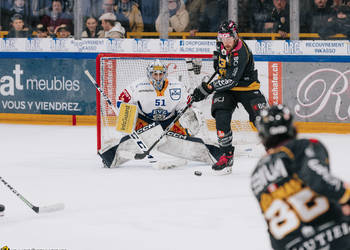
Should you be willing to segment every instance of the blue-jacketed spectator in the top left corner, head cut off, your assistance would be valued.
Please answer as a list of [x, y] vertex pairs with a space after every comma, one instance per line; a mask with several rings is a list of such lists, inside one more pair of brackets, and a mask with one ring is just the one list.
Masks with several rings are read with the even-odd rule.
[[1, 13], [1, 24], [4, 30], [11, 28], [11, 18], [16, 14], [20, 14], [23, 22], [29, 26], [35, 23], [27, 0], [13, 0], [10, 9], [3, 9]]

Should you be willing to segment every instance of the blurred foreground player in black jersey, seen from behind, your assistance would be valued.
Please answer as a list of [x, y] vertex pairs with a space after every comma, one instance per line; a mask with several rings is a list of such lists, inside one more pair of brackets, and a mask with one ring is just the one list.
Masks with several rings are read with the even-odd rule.
[[256, 127], [267, 154], [251, 189], [275, 250], [349, 250], [350, 186], [330, 173], [327, 149], [297, 139], [290, 110], [264, 109]]

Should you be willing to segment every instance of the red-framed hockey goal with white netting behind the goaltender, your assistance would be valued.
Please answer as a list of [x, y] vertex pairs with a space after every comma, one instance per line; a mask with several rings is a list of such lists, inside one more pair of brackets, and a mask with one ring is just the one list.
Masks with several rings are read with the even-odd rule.
[[[201, 72], [195, 75], [188, 71], [186, 59], [201, 59]], [[203, 76], [211, 75], [214, 72], [212, 54], [147, 54], [147, 53], [102, 53], [96, 58], [96, 81], [104, 93], [116, 105], [118, 97], [123, 89], [137, 79], [147, 77], [146, 67], [153, 60], [159, 59], [168, 67], [168, 77], [177, 78], [182, 81], [189, 93], [200, 84]], [[205, 141], [215, 141], [215, 121], [210, 114], [211, 98], [196, 103], [196, 106], [203, 113], [206, 126], [204, 130], [211, 133], [204, 133], [211, 138], [203, 138]], [[233, 131], [251, 133], [254, 131], [248, 121], [248, 115], [242, 108], [236, 109], [234, 120], [231, 121]], [[108, 103], [101, 98], [96, 90], [96, 117], [97, 117], [97, 150], [108, 147], [118, 142], [122, 136], [116, 128], [116, 115], [108, 106]], [[241, 134], [241, 133], [240, 133]], [[240, 136], [247, 138], [246, 135]]]

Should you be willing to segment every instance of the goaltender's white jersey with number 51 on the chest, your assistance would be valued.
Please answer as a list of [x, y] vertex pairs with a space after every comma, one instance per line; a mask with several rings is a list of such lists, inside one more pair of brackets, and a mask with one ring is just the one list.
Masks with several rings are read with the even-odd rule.
[[119, 100], [136, 104], [138, 112], [153, 121], [173, 117], [186, 106], [188, 98], [185, 85], [173, 78], [165, 80], [161, 91], [156, 90], [148, 78], [138, 79], [119, 95]]

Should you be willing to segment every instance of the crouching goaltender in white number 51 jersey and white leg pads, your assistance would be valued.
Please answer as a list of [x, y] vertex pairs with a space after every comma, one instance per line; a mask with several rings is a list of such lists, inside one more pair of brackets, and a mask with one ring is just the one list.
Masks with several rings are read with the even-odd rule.
[[[128, 85], [119, 95], [119, 100], [137, 105], [135, 130], [147, 146], [150, 146], [176, 118], [177, 113], [186, 107], [190, 97], [182, 82], [167, 77], [167, 67], [157, 59], [147, 66], [147, 77]], [[188, 109], [151, 154], [159, 151], [174, 157], [211, 164], [217, 158], [218, 148], [193, 136], [201, 125], [196, 113], [191, 108]], [[126, 157], [125, 152], [140, 153], [129, 135], [122, 137], [117, 144], [102, 149], [99, 154], [104, 165], [111, 168], [132, 159]], [[182, 161], [182, 164], [174, 165], [183, 164]]]

